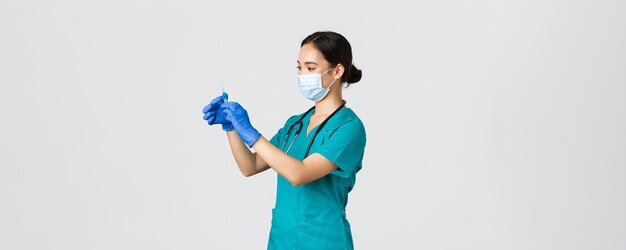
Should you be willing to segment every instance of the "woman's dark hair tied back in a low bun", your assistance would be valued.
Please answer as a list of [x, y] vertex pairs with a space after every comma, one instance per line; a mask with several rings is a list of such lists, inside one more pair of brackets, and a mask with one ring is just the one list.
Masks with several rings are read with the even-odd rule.
[[349, 86], [361, 80], [362, 72], [352, 64], [352, 46], [345, 37], [332, 31], [318, 31], [302, 40], [300, 47], [308, 43], [322, 52], [331, 67], [337, 64], [344, 66], [341, 82], [347, 82]]

